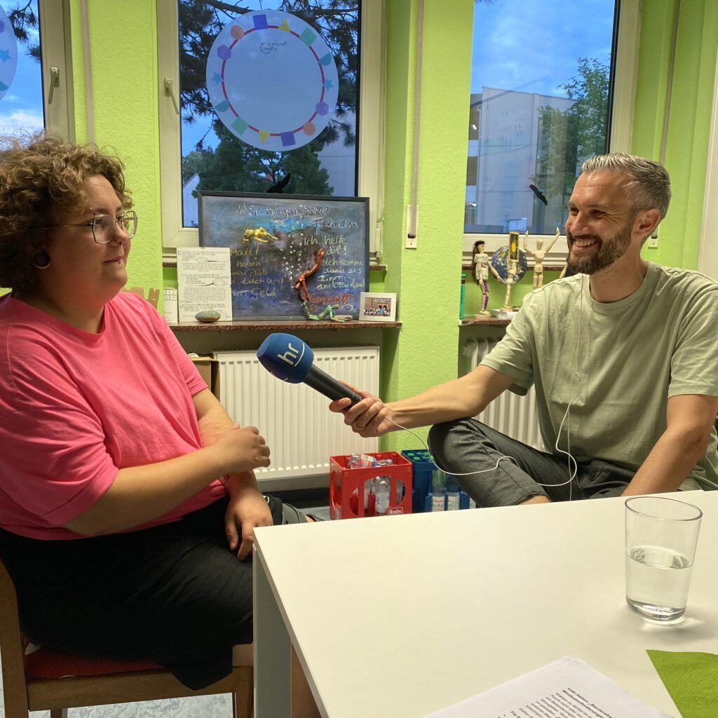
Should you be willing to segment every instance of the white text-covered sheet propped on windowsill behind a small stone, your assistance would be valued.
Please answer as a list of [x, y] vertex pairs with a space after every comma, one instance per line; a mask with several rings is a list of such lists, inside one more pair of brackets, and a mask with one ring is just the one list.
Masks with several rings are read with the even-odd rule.
[[216, 309], [220, 322], [232, 321], [232, 276], [228, 247], [177, 247], [180, 322]]

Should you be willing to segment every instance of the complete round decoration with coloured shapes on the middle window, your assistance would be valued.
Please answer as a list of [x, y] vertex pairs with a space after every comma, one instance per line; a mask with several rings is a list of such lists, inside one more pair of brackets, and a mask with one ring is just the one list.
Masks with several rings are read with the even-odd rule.
[[255, 10], [215, 38], [207, 89], [232, 134], [276, 152], [297, 149], [325, 129], [339, 78], [317, 30], [286, 12]]

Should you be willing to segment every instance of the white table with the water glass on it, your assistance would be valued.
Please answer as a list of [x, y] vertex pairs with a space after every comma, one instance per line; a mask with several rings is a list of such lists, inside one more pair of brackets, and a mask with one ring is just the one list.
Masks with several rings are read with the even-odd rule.
[[258, 528], [256, 718], [289, 716], [290, 640], [323, 716], [419, 718], [561, 656], [678, 715], [645, 649], [715, 652], [718, 492], [683, 623], [625, 603], [624, 500]]

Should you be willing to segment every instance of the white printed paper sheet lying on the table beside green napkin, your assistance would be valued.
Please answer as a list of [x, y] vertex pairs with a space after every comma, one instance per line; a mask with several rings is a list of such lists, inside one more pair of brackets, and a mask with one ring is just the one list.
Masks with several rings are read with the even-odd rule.
[[671, 718], [578, 658], [559, 658], [427, 718]]

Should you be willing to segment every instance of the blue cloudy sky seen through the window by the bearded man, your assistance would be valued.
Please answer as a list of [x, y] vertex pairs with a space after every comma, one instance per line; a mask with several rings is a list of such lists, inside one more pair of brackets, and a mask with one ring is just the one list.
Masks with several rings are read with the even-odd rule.
[[579, 57], [608, 62], [613, 0], [475, 4], [472, 93], [482, 86], [566, 96]]

